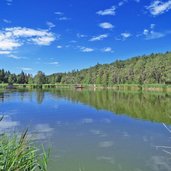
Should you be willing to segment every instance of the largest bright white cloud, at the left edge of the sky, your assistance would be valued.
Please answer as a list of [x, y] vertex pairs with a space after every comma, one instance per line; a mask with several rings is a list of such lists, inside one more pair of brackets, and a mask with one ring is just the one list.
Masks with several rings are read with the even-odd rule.
[[47, 46], [55, 39], [55, 35], [48, 30], [26, 27], [5, 28], [0, 30], [0, 51], [1, 54], [7, 54], [25, 43]]

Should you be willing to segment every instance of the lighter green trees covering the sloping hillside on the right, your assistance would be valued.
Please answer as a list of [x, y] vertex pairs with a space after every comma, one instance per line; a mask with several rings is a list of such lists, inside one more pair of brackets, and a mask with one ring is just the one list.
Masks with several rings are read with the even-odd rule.
[[[48, 76], [49, 83], [58, 74]], [[128, 60], [117, 60], [62, 74], [58, 83], [63, 84], [164, 84], [171, 81], [171, 53], [151, 54]]]

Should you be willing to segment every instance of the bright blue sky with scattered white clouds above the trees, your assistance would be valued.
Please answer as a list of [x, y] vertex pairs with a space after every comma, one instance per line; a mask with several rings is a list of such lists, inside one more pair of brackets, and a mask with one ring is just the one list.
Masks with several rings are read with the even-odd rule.
[[0, 68], [46, 74], [171, 50], [171, 0], [0, 0]]

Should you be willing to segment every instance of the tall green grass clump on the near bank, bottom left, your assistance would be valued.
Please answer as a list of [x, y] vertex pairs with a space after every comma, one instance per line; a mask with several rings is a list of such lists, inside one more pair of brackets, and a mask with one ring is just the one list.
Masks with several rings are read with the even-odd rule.
[[20, 137], [0, 135], [1, 171], [47, 171], [48, 156], [29, 141], [27, 130]]

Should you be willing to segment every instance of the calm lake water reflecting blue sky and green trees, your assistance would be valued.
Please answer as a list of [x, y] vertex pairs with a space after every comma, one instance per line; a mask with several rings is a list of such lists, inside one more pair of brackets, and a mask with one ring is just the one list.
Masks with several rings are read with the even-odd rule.
[[171, 171], [169, 94], [1, 91], [0, 115], [51, 148], [50, 171]]

